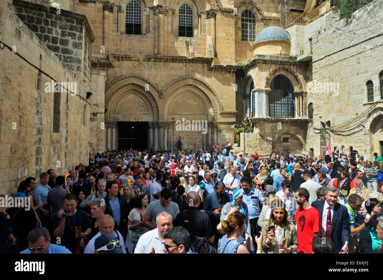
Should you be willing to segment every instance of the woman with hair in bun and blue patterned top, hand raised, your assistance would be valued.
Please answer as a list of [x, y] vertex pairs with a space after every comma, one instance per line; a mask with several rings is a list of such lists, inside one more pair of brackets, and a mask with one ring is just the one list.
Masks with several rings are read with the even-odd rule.
[[[246, 246], [237, 241], [237, 238], [242, 236], [245, 228], [245, 222], [246, 218], [242, 213], [232, 213], [226, 220], [221, 221], [222, 230], [226, 234], [221, 238], [221, 243], [219, 246], [220, 254], [249, 254]], [[257, 254], [262, 253], [262, 240], [262, 233], [259, 238], [255, 236], [255, 242], [257, 243]]]

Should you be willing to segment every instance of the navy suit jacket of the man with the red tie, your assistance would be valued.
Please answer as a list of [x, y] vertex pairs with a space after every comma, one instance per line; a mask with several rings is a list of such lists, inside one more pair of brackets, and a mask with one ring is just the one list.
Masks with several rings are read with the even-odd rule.
[[[321, 221], [325, 201], [326, 200], [314, 201], [311, 203], [311, 206], [318, 210], [319, 214], [321, 215]], [[332, 215], [331, 223], [331, 241], [334, 243], [336, 253], [339, 253], [345, 242], [349, 240], [349, 230], [347, 223], [348, 218], [349, 214], [347, 212], [347, 208], [339, 203], [336, 203], [334, 206], [334, 214]]]

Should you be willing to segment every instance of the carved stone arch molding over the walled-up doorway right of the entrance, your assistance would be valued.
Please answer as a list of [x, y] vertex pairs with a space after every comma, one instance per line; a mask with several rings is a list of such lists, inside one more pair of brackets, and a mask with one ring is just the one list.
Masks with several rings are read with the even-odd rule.
[[218, 94], [215, 92], [215, 90], [204, 80], [201, 80], [197, 77], [192, 76], [183, 76], [174, 79], [171, 81], [165, 88], [162, 90], [163, 92], [163, 98], [161, 99], [160, 104], [158, 104], [160, 113], [160, 120], [164, 120], [165, 116], [164, 109], [167, 101], [169, 100], [169, 97], [179, 88], [183, 86], [195, 86], [196, 88], [200, 89], [203, 93], [206, 94], [208, 99], [210, 100], [211, 104], [211, 111], [213, 115], [213, 120], [218, 120], [218, 114], [222, 112], [222, 105], [219, 101]]

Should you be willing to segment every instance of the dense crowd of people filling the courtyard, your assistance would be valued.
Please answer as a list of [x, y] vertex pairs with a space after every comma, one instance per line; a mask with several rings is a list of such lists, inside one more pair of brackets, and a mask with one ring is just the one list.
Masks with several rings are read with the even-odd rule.
[[[246, 121], [246, 119], [245, 119]], [[2, 253], [379, 253], [383, 160], [119, 150], [20, 182]]]

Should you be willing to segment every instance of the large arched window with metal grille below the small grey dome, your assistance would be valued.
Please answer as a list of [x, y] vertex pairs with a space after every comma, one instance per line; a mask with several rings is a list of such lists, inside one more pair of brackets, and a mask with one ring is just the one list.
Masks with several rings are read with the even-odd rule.
[[272, 118], [295, 117], [295, 94], [290, 80], [278, 75], [270, 83], [268, 94], [268, 112]]

